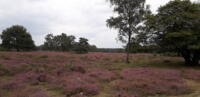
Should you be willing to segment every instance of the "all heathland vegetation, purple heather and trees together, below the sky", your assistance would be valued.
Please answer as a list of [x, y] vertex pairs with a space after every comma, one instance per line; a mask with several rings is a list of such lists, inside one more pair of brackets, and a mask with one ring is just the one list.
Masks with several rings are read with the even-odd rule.
[[200, 4], [171, 0], [154, 14], [145, 0], [108, 2], [124, 48], [65, 33], [36, 46], [24, 26], [3, 30], [0, 97], [199, 97]]

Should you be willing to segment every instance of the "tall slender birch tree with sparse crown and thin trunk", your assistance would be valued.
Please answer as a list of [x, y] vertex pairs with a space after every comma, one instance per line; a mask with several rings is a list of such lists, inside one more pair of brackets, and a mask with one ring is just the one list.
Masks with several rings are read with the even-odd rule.
[[107, 26], [118, 30], [118, 38], [127, 43], [126, 62], [129, 61], [130, 43], [138, 33], [139, 24], [149, 7], [145, 7], [145, 0], [109, 0], [118, 15], [107, 20]]

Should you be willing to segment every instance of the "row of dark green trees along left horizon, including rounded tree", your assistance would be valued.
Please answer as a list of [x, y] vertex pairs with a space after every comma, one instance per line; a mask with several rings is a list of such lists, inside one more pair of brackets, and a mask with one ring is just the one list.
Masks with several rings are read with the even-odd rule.
[[73, 51], [76, 53], [88, 53], [95, 51], [97, 47], [90, 45], [88, 39], [79, 38], [76, 42], [76, 37], [73, 35], [67, 36], [65, 33], [54, 36], [48, 34], [45, 37], [43, 45], [37, 47], [34, 44], [31, 34], [21, 25], [14, 25], [3, 30], [1, 34], [2, 44], [0, 50], [4, 51]]

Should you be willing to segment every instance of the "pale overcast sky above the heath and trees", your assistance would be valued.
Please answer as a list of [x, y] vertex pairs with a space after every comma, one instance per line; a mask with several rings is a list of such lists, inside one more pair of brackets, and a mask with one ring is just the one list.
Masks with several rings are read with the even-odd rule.
[[[151, 9], [169, 0], [147, 0]], [[66, 33], [89, 39], [100, 48], [118, 48], [117, 32], [106, 27], [106, 19], [113, 15], [106, 0], [0, 0], [0, 32], [12, 25], [23, 25], [31, 33], [35, 44], [44, 37]]]

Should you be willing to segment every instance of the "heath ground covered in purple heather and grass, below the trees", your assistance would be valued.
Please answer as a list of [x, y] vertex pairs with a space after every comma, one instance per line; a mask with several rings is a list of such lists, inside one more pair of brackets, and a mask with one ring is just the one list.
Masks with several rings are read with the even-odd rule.
[[0, 52], [0, 97], [200, 97], [200, 68], [181, 57]]

